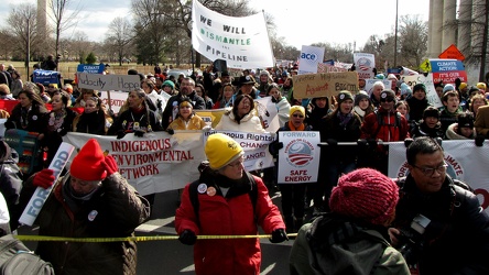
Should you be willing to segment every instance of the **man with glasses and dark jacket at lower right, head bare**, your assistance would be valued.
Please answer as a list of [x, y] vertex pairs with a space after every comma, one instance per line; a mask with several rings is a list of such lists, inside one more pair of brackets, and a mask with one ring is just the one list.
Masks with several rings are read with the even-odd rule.
[[419, 274], [489, 274], [489, 217], [466, 184], [447, 175], [442, 146], [414, 140], [400, 178], [392, 244]]

